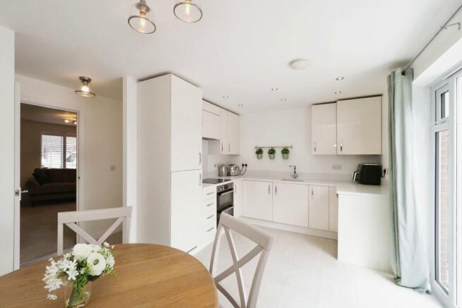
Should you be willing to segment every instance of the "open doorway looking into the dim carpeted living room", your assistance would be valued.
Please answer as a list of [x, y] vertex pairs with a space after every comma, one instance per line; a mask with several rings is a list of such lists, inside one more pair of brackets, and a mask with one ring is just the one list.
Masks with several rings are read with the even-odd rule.
[[[76, 211], [78, 113], [20, 104], [20, 264], [56, 253], [61, 211]], [[76, 235], [64, 230], [64, 247]]]

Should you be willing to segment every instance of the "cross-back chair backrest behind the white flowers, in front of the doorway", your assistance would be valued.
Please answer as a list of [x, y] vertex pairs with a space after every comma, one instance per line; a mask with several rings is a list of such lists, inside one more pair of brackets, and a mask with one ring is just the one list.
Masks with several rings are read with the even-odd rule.
[[[62, 211], [58, 213], [58, 255], [63, 254], [63, 226], [66, 225], [75, 233], [80, 235], [90, 244], [102, 245], [111, 233], [116, 230], [121, 223], [125, 224], [126, 218], [131, 216], [131, 207], [114, 207], [111, 209], [92, 209], [88, 211]], [[117, 218], [112, 226], [104, 232], [98, 240], [92, 238], [76, 223], [83, 221], [100, 221], [102, 219]]]

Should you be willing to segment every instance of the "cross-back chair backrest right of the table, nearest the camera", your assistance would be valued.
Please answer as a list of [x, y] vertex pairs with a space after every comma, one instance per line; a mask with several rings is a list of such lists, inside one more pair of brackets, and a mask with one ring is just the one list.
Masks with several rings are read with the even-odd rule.
[[[248, 254], [245, 254], [244, 257], [239, 259], [238, 254], [236, 252], [236, 245], [234, 245], [233, 235], [231, 234], [230, 230], [236, 231], [241, 235], [245, 236], [249, 240], [255, 242], [256, 246], [253, 250], [250, 250]], [[224, 270], [223, 272], [219, 273], [217, 276], [214, 276], [214, 259], [215, 254], [217, 252], [217, 247], [219, 247], [219, 241], [221, 239], [221, 233], [224, 231], [226, 241], [229, 245], [229, 251], [231, 252], [231, 257], [233, 259], [233, 265], [231, 265], [228, 269]], [[253, 308], [257, 305], [258, 299], [258, 291], [260, 290], [260, 283], [262, 281], [263, 271], [265, 270], [265, 265], [267, 262], [267, 257], [269, 250], [273, 245], [274, 237], [261, 230], [260, 228], [256, 228], [251, 226], [248, 223], [238, 220], [229, 214], [222, 213], [220, 215], [220, 221], [217, 228], [217, 234], [215, 235], [213, 250], [212, 250], [212, 259], [210, 260], [210, 274], [213, 276], [215, 285], [217, 285], [217, 289], [223, 293], [223, 295], [233, 304], [233, 307], [236, 308]], [[248, 263], [248, 261], [252, 260], [254, 257], [260, 254], [260, 259], [257, 262], [257, 267], [255, 269], [255, 274], [253, 276], [252, 285], [250, 286], [250, 292], [247, 297], [247, 293], [245, 291], [245, 285], [242, 278], [241, 267]], [[217, 267], [217, 262], [215, 262], [215, 267]], [[238, 281], [238, 290], [239, 290], [239, 302], [233, 298], [228, 291], [226, 291], [222, 285], [220, 285], [220, 281], [224, 278], [228, 277], [232, 273], [236, 273], [236, 279]]]

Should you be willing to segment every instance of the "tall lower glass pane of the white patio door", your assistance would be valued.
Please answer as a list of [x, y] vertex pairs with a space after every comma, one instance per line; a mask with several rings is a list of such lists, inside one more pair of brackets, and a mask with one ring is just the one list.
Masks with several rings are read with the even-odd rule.
[[449, 161], [449, 130], [442, 130], [437, 133], [437, 236], [436, 236], [436, 278], [447, 292], [449, 286], [449, 255], [448, 255], [448, 223], [449, 223], [449, 191], [451, 183], [448, 178]]

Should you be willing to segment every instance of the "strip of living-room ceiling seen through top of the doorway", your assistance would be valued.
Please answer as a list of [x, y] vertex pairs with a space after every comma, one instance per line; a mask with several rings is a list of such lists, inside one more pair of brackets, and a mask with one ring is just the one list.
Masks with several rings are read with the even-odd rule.
[[66, 123], [64, 120], [77, 121], [77, 113], [30, 104], [21, 104], [21, 119], [43, 123], [75, 126], [75, 124]]

